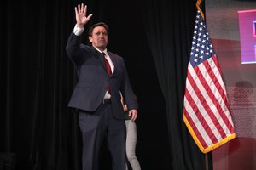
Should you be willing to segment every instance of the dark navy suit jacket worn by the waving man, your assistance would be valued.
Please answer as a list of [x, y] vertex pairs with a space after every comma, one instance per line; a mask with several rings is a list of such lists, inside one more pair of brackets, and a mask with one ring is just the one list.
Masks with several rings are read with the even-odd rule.
[[108, 51], [114, 65], [113, 74], [109, 77], [102, 54], [96, 48], [81, 42], [82, 36], [76, 36], [73, 32], [67, 42], [67, 54], [76, 67], [78, 77], [68, 106], [84, 111], [96, 111], [110, 84], [113, 114], [116, 118], [125, 119], [119, 92], [123, 94], [129, 110], [137, 109], [137, 100], [123, 58]]

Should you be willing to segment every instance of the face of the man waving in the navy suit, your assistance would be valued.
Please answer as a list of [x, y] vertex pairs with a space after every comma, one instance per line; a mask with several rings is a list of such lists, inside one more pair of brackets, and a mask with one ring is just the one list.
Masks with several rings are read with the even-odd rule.
[[93, 29], [91, 36], [89, 37], [89, 40], [93, 47], [103, 51], [108, 44], [108, 32], [105, 29], [105, 27], [96, 26]]

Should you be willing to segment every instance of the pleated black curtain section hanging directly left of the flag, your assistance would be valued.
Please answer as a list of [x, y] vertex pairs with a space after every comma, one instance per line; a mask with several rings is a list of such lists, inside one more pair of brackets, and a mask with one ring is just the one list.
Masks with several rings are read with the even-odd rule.
[[[183, 96], [195, 26], [196, 1], [145, 1], [148, 43], [166, 99], [172, 168], [212, 169], [212, 154], [201, 153], [183, 123]], [[202, 8], [204, 9], [204, 8]], [[207, 161], [206, 161], [207, 160]]]

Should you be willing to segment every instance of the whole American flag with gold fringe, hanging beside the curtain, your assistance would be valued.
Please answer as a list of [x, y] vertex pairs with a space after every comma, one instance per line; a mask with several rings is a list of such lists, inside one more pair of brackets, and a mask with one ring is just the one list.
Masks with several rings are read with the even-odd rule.
[[236, 137], [218, 59], [200, 11], [195, 19], [183, 102], [183, 120], [203, 153]]

